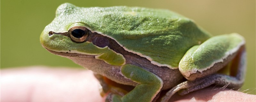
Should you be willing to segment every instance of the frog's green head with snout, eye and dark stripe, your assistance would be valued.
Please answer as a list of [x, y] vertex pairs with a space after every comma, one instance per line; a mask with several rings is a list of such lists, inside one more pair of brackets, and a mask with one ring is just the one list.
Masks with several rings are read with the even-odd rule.
[[84, 23], [92, 21], [92, 17], [86, 17], [89, 13], [69, 3], [60, 5], [55, 19], [45, 27], [40, 36], [41, 44], [56, 55], [96, 58], [111, 65], [123, 65], [124, 56], [109, 48], [108, 37], [94, 33]]

